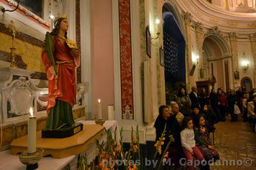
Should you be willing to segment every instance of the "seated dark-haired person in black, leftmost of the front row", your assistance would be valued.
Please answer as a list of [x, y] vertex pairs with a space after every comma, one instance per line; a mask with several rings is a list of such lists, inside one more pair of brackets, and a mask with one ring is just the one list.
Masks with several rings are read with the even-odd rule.
[[180, 167], [179, 160], [183, 156], [182, 148], [180, 145], [180, 124], [176, 118], [170, 113], [169, 106], [163, 105], [159, 107], [159, 115], [156, 118], [154, 127], [156, 128], [156, 141], [161, 138], [166, 125], [166, 133], [164, 135], [164, 145], [161, 148], [163, 154], [166, 145], [172, 140], [168, 148], [168, 157], [171, 159], [173, 166]]

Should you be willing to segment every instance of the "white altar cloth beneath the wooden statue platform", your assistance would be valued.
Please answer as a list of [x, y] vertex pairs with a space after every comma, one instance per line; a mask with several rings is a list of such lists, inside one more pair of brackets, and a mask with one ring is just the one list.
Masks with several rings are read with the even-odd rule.
[[[79, 122], [83, 124], [95, 124], [93, 120], [80, 120]], [[119, 129], [118, 129], [118, 123], [116, 120], [106, 120], [105, 124], [103, 126], [108, 130], [110, 129], [111, 132], [115, 132], [116, 130], [116, 138], [120, 139], [119, 135]], [[100, 139], [100, 143], [104, 140], [106, 141], [107, 134], [104, 134]], [[86, 157], [88, 160], [88, 163], [92, 162], [93, 159], [97, 156], [97, 146], [96, 143], [92, 143], [88, 146], [88, 150], [84, 151], [86, 152]], [[59, 170], [63, 167], [70, 164], [71, 169], [76, 169], [77, 164], [77, 155], [72, 155], [70, 157], [66, 157], [63, 159], [54, 159], [51, 156], [43, 157], [38, 162], [38, 170], [45, 170], [45, 169], [51, 169], [51, 170]], [[4, 170], [25, 170], [26, 166], [22, 164], [19, 160], [19, 155], [12, 155], [10, 153], [10, 150], [4, 150], [3, 152], [0, 152], [0, 169]], [[36, 169], [37, 170], [37, 169]]]

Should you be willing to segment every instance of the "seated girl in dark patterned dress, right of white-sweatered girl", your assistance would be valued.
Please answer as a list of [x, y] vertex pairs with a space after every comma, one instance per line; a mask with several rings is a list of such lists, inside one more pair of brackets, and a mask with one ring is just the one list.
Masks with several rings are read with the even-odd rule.
[[207, 127], [205, 126], [205, 118], [199, 115], [195, 121], [195, 141], [196, 146], [204, 155], [205, 160], [218, 160], [220, 155], [211, 143]]

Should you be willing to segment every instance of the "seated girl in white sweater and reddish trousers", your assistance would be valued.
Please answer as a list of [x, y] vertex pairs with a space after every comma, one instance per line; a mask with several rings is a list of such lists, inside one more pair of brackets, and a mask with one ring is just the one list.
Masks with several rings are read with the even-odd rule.
[[188, 160], [188, 169], [195, 169], [193, 166], [191, 166], [191, 164], [193, 164], [193, 155], [201, 162], [202, 160], [204, 160], [204, 156], [196, 147], [192, 118], [185, 117], [182, 121], [182, 127], [184, 129], [183, 131], [180, 132], [182, 150]]

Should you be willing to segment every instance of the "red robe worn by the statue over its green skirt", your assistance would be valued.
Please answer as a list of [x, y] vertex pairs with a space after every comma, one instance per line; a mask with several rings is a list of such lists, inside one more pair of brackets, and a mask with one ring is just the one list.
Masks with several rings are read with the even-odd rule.
[[[51, 60], [47, 57], [45, 49], [42, 50], [42, 60], [49, 80], [49, 97], [47, 104], [47, 114], [55, 106], [56, 99], [69, 103], [72, 107], [76, 103], [76, 67], [80, 65], [79, 54], [71, 52], [71, 49], [58, 36], [52, 36], [56, 39], [54, 43], [54, 60], [67, 61], [73, 60], [73, 63], [58, 64], [58, 79], [54, 79], [54, 74], [49, 72], [52, 66]], [[57, 81], [57, 82], [56, 82]], [[54, 89], [57, 85], [57, 89]]]

